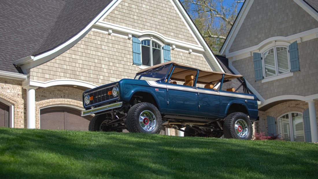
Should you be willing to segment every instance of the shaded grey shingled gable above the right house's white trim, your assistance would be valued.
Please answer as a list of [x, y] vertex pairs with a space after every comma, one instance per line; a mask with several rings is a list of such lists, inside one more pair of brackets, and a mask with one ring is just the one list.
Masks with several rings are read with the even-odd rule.
[[270, 37], [290, 36], [317, 27], [317, 20], [293, 0], [255, 0], [229, 52], [258, 45]]

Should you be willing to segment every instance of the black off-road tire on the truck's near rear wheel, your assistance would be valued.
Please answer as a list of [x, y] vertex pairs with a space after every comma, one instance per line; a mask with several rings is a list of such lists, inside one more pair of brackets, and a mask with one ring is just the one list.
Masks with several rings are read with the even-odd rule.
[[[247, 135], [245, 137], [238, 136], [238, 134], [235, 131], [235, 122], [239, 119], [244, 120], [245, 123], [247, 124], [248, 132], [247, 132]], [[252, 134], [253, 134], [252, 122], [247, 117], [247, 115], [242, 113], [242, 112], [235, 112], [235, 113], [231, 113], [228, 116], [226, 116], [224, 124], [223, 124], [223, 130], [224, 130], [224, 137], [225, 138], [249, 140], [252, 138]]]

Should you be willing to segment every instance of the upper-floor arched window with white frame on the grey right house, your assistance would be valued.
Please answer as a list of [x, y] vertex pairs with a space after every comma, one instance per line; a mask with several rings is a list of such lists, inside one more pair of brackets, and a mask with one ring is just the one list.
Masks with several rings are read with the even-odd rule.
[[287, 46], [275, 46], [263, 53], [264, 77], [278, 76], [290, 72]]

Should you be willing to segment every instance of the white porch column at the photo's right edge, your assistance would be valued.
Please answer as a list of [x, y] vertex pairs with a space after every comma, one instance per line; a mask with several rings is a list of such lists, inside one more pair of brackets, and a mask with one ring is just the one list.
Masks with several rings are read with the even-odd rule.
[[315, 101], [306, 101], [309, 108], [309, 120], [310, 120], [310, 131], [311, 131], [311, 142], [318, 142], [318, 131], [317, 131], [317, 116]]

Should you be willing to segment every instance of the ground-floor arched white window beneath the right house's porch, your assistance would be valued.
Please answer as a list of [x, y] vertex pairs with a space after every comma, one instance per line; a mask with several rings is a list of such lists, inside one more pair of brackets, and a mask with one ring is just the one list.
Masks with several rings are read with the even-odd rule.
[[303, 117], [299, 112], [289, 112], [278, 118], [280, 138], [285, 141], [304, 142]]

